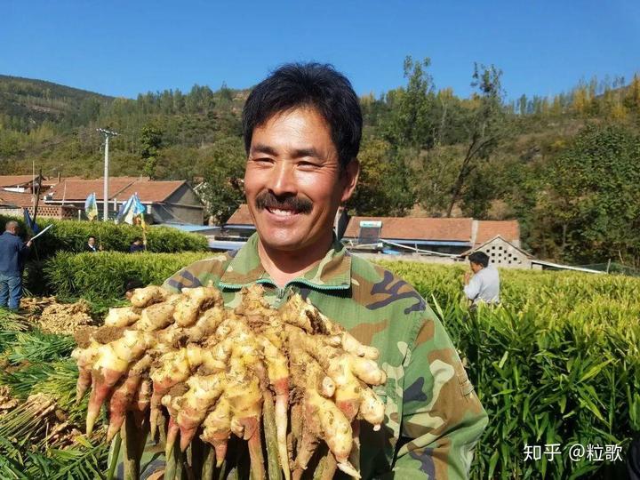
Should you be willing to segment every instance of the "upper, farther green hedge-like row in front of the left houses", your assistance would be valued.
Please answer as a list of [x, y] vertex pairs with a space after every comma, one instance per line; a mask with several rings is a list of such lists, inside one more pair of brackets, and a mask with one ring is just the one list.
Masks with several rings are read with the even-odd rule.
[[[8, 220], [20, 221], [21, 232], [26, 232], [20, 219], [0, 215], [0, 231]], [[129, 246], [136, 236], [142, 236], [142, 229], [128, 224], [116, 225], [111, 222], [81, 220], [38, 220], [38, 226], [53, 227], [36, 239], [32, 259], [45, 259], [56, 252], [84, 252], [84, 245], [90, 235], [95, 236], [108, 252], [129, 252]], [[181, 232], [175, 228], [147, 228], [148, 252], [204, 252], [208, 249], [204, 236]]]

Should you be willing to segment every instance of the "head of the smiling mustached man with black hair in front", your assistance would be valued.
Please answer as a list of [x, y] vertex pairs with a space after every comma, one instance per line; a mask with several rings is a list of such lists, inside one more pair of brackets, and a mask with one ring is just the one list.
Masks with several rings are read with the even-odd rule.
[[348, 79], [328, 65], [284, 65], [249, 95], [243, 129], [244, 190], [262, 244], [328, 246], [359, 172], [362, 112]]

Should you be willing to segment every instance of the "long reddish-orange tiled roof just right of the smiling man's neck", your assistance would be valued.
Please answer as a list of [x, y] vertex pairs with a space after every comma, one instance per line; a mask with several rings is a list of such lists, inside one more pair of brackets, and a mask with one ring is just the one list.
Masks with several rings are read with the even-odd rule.
[[361, 221], [381, 221], [381, 238], [471, 242], [473, 219], [420, 217], [351, 217], [344, 236], [357, 238]]

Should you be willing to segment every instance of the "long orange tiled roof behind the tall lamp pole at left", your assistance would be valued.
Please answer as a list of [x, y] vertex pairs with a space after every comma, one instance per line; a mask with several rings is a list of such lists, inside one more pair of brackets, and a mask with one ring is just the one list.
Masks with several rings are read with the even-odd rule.
[[[140, 201], [164, 202], [178, 188], [185, 183], [184, 180], [158, 181], [148, 180], [144, 177], [112, 177], [109, 178], [108, 198], [117, 198], [119, 201], [126, 200], [134, 193], [138, 193]], [[52, 187], [48, 192], [52, 195], [52, 200], [68, 200], [69, 202], [84, 201], [93, 192], [96, 200], [104, 199], [102, 195], [104, 187], [103, 180], [62, 180]]]

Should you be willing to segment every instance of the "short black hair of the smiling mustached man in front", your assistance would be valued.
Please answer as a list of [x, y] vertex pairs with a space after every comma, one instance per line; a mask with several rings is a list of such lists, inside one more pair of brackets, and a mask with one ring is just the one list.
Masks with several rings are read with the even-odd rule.
[[256, 127], [278, 113], [300, 107], [315, 108], [329, 124], [340, 167], [356, 158], [363, 125], [360, 103], [348, 78], [322, 63], [287, 63], [252, 90], [243, 109], [246, 153]]

